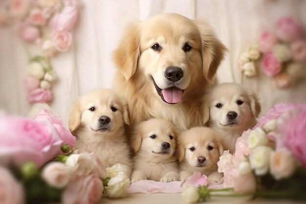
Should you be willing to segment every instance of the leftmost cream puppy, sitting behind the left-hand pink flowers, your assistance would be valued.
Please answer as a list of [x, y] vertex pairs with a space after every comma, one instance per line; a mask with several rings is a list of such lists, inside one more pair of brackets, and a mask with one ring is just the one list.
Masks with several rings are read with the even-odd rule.
[[79, 150], [94, 152], [106, 167], [120, 163], [130, 177], [125, 123], [129, 124], [127, 103], [108, 89], [96, 89], [80, 97], [69, 115], [69, 129], [77, 137]]

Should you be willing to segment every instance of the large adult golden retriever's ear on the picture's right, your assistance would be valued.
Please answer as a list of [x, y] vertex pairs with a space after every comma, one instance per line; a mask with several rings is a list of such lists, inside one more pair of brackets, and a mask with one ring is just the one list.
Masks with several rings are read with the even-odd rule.
[[224, 59], [224, 52], [227, 49], [205, 22], [199, 19], [194, 22], [201, 36], [203, 74], [209, 82], [214, 83], [217, 69]]

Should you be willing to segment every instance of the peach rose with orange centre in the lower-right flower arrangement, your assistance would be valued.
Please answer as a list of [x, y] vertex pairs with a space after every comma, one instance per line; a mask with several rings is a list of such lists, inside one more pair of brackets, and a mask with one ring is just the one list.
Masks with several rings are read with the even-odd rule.
[[296, 170], [297, 160], [286, 149], [271, 154], [270, 172], [276, 180], [290, 177]]

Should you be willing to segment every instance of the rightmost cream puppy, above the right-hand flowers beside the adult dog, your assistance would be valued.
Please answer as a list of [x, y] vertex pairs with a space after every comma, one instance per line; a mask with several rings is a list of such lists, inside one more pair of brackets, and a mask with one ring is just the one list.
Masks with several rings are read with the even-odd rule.
[[214, 87], [207, 98], [204, 109], [209, 110], [210, 117], [204, 121], [209, 120], [208, 125], [222, 136], [224, 149], [234, 153], [237, 138], [257, 123], [261, 112], [258, 97], [239, 84], [224, 83]]

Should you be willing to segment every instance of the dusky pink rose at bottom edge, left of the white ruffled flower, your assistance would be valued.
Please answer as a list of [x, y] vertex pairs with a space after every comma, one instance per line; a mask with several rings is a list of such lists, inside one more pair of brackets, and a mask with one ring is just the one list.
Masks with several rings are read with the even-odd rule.
[[103, 182], [97, 175], [76, 177], [62, 194], [63, 204], [95, 204], [103, 193]]

